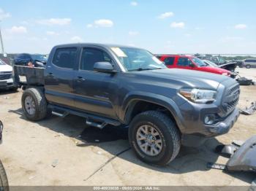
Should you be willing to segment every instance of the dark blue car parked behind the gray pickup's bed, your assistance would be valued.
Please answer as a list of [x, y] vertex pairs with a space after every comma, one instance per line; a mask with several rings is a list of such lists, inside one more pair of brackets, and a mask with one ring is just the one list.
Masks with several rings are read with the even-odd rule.
[[14, 64], [16, 66], [29, 66], [32, 63], [35, 67], [44, 67], [47, 62], [45, 55], [30, 55], [30, 54], [19, 54], [14, 58]]

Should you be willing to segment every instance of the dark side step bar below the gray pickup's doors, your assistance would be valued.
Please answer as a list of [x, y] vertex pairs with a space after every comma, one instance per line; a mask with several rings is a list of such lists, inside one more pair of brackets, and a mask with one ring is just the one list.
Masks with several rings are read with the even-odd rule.
[[97, 128], [104, 128], [108, 124], [113, 126], [121, 125], [121, 122], [119, 122], [118, 120], [112, 120], [108, 117], [99, 117], [98, 115], [88, 114], [86, 112], [78, 112], [72, 109], [67, 109], [65, 107], [54, 106], [50, 104], [48, 105], [48, 108], [53, 110], [52, 114], [59, 117], [66, 117], [68, 114], [75, 114], [80, 117], [85, 117], [87, 125], [91, 125]]

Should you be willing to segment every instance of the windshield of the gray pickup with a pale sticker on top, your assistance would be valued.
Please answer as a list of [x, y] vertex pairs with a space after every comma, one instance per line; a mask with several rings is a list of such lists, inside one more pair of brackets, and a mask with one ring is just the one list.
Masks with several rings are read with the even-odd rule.
[[127, 71], [166, 69], [162, 61], [147, 50], [132, 47], [111, 47]]

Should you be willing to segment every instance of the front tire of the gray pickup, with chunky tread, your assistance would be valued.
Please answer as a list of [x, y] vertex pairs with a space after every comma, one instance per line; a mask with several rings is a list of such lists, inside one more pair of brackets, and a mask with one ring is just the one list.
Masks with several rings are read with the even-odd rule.
[[[148, 155], [145, 150], [143, 151], [143, 149], [141, 149], [143, 143], [141, 144], [140, 139], [138, 138], [138, 132], [141, 130], [141, 128], [146, 127], [145, 125], [151, 127], [151, 130], [154, 128], [154, 130], [158, 131], [159, 135], [155, 136], [154, 140], [157, 138], [162, 139], [162, 144], [160, 144], [162, 145], [162, 149], [157, 151], [159, 152], [158, 154], [155, 152], [151, 153], [153, 155]], [[156, 133], [156, 131], [154, 132]], [[138, 141], [140, 143], [138, 143]], [[167, 165], [178, 155], [178, 152], [181, 148], [181, 135], [175, 123], [170, 119], [170, 117], [167, 117], [167, 115], [161, 112], [147, 111], [135, 116], [130, 123], [129, 144], [131, 145], [132, 150], [135, 152], [137, 157], [143, 162], [151, 163], [154, 165]], [[156, 144], [153, 144], [153, 146], [154, 148], [157, 148], [155, 147]], [[146, 146], [146, 150], [148, 150], [148, 147], [149, 146]], [[151, 147], [149, 150], [151, 150]]]

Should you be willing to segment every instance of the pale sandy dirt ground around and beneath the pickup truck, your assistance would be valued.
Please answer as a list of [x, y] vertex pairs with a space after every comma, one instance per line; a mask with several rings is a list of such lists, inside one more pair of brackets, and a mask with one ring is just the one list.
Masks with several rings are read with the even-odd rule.
[[[238, 69], [256, 80], [256, 69]], [[215, 154], [217, 144], [246, 140], [256, 134], [256, 114], [241, 115], [229, 133], [201, 147], [182, 147], [178, 158], [159, 168], [138, 160], [127, 140], [86, 144], [78, 139], [86, 128], [76, 116], [30, 122], [23, 117], [18, 93], [0, 93], [4, 142], [0, 158], [10, 185], [249, 185], [255, 175], [209, 170], [206, 163], [226, 163]], [[256, 101], [256, 86], [241, 87], [238, 107]], [[120, 152], [128, 149], [120, 154]], [[116, 156], [117, 154], [120, 154]], [[53, 165], [55, 167], [53, 167]]]

